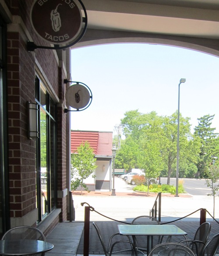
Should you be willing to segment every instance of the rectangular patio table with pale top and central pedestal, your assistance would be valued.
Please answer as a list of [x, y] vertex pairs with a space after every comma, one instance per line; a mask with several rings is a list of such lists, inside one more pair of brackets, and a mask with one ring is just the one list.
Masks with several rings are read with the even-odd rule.
[[175, 225], [118, 225], [121, 235], [146, 235], [147, 236], [147, 253], [153, 247], [154, 235], [187, 235]]

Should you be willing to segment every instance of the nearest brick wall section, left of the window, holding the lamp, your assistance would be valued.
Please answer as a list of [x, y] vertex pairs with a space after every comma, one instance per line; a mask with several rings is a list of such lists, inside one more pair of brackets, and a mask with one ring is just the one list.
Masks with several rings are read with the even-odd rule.
[[11, 217], [21, 217], [35, 209], [35, 141], [27, 138], [26, 108], [27, 101], [35, 101], [34, 81], [34, 59], [25, 50], [25, 42], [18, 33], [8, 33], [7, 94]]

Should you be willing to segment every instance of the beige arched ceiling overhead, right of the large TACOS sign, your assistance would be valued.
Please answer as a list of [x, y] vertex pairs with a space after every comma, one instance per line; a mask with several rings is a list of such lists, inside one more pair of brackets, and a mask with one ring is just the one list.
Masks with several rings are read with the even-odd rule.
[[219, 0], [82, 0], [82, 3], [88, 27], [72, 48], [145, 42], [219, 56]]

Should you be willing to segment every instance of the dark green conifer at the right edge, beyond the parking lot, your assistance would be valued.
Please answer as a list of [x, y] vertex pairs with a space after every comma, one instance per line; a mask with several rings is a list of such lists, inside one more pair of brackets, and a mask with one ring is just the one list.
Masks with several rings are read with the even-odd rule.
[[215, 128], [211, 128], [215, 115], [204, 115], [198, 118], [198, 126], [194, 128], [194, 135], [200, 138], [200, 153], [197, 163], [196, 177], [204, 177], [211, 166], [214, 157], [219, 157], [219, 139]]

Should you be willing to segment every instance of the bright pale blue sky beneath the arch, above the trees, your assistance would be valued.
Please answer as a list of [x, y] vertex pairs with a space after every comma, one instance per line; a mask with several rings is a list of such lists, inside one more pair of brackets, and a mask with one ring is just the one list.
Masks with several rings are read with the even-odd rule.
[[71, 113], [71, 130], [111, 131], [130, 110], [169, 116], [178, 109], [190, 117], [214, 115], [219, 133], [219, 58], [179, 47], [119, 43], [71, 50], [71, 79], [92, 91], [91, 105]]

